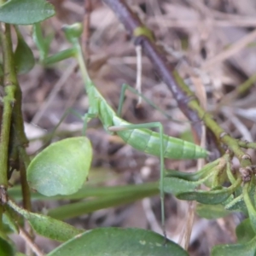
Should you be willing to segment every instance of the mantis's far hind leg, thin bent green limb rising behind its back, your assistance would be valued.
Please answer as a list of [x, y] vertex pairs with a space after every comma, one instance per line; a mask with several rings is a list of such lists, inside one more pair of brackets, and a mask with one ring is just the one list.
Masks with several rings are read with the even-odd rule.
[[[152, 102], [151, 100], [149, 100], [146, 96], [143, 96], [142, 93], [138, 92], [136, 89], [132, 88], [131, 85], [129, 84], [123, 84], [122, 85], [122, 89], [121, 89], [121, 94], [120, 94], [120, 98], [119, 98], [119, 108], [117, 111], [117, 115], [120, 117], [121, 113], [122, 113], [122, 108], [124, 105], [124, 101], [125, 101], [125, 90], [130, 90], [131, 93], [140, 96], [141, 98], [143, 98], [143, 101], [147, 102], [148, 105], [152, 106], [153, 108], [157, 109], [160, 113], [162, 113], [164, 116], [166, 116], [167, 119], [172, 119], [172, 116], [169, 115], [168, 113], [166, 113], [163, 109], [160, 109], [158, 106], [156, 106], [154, 104], [154, 102]], [[173, 120], [173, 119], [172, 119]], [[178, 120], [175, 120], [177, 122], [180, 122]]]

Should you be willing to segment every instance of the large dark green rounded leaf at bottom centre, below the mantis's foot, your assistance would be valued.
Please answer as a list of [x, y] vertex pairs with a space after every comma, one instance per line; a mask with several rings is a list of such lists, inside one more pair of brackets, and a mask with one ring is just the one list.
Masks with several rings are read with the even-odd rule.
[[[182, 247], [149, 230], [102, 228], [67, 241], [47, 256], [187, 256]], [[86, 253], [85, 253], [86, 252]]]

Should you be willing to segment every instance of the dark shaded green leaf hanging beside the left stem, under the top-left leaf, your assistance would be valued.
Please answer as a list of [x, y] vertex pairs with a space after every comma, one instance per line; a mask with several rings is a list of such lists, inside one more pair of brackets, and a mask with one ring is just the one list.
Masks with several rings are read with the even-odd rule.
[[15, 31], [18, 37], [18, 45], [15, 49], [15, 67], [17, 73], [28, 73], [35, 65], [34, 55], [16, 26]]

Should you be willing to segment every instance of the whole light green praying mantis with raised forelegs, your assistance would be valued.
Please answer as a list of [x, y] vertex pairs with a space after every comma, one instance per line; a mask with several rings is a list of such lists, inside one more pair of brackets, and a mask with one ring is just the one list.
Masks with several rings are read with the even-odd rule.
[[[125, 143], [131, 145], [132, 148], [160, 157], [160, 201], [161, 201], [161, 221], [165, 233], [165, 214], [164, 214], [164, 159], [200, 159], [206, 158], [208, 152], [194, 143], [185, 142], [179, 138], [168, 137], [164, 134], [163, 126], [160, 122], [152, 122], [147, 124], [131, 124], [119, 117], [124, 100], [125, 90], [129, 89], [129, 85], [125, 84], [122, 88], [121, 98], [119, 102], [118, 114], [108, 105], [101, 93], [96, 89], [87, 68], [84, 64], [84, 55], [79, 44], [79, 37], [83, 31], [79, 23], [71, 26], [64, 26], [67, 40], [72, 44], [72, 48], [63, 50], [55, 55], [47, 57], [42, 43], [42, 32], [39, 25], [35, 26], [35, 39], [38, 48], [41, 51], [42, 62], [45, 65], [74, 57], [79, 63], [79, 69], [84, 81], [85, 91], [89, 98], [90, 108], [88, 113], [84, 114], [84, 130], [86, 125], [93, 118], [99, 118], [102, 121], [106, 131], [114, 132], [121, 137]], [[159, 132], [151, 131], [148, 128], [158, 128]], [[79, 148], [78, 148], [79, 150]]]

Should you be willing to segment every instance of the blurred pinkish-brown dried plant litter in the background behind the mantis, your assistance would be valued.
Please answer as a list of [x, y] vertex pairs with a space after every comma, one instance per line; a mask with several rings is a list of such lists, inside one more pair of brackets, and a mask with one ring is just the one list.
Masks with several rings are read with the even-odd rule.
[[[84, 20], [84, 1], [50, 2], [55, 4], [57, 16], [44, 22], [44, 32], [49, 37], [52, 37], [54, 31], [57, 32], [49, 49], [50, 53], [55, 53], [68, 47], [61, 32], [62, 24]], [[207, 111], [218, 120], [218, 124], [232, 137], [255, 141], [255, 1], [126, 2], [143, 23], [154, 31], [157, 44], [168, 53], [168, 60], [176, 65], [178, 72], [191, 90], [196, 92]], [[84, 39], [90, 75], [108, 103], [116, 109], [121, 84], [136, 84], [135, 47], [124, 26], [102, 1], [91, 1], [90, 19], [87, 31], [89, 38]], [[38, 58], [30, 32], [26, 29], [21, 32], [26, 35], [27, 44], [32, 46], [33, 54]], [[160, 81], [144, 55], [142, 62], [143, 94], [172, 119], [166, 119], [165, 115], [145, 102], [137, 109], [137, 96], [130, 93], [125, 97], [123, 117], [132, 123], [158, 120], [170, 136], [191, 137], [189, 122], [177, 108], [172, 93]], [[37, 125], [38, 137], [44, 137], [48, 131], [53, 130], [65, 109], [72, 107], [83, 114], [89, 108], [76, 63], [72, 60], [47, 69], [36, 66], [32, 72], [20, 76], [20, 84], [24, 97], [23, 111], [28, 124], [27, 136], [31, 139], [34, 139], [34, 132], [29, 128], [30, 125]], [[79, 134], [82, 126], [80, 119], [69, 115], [56, 132], [56, 139]], [[111, 169], [118, 176], [115, 184], [158, 179], [157, 158], [137, 152], [118, 138], [107, 134], [97, 120], [90, 122], [88, 136], [95, 151], [94, 166], [105, 169], [106, 172]], [[42, 146], [42, 141], [39, 142], [34, 148], [29, 148], [30, 153]], [[256, 159], [255, 151], [249, 154], [253, 160]], [[236, 162], [234, 165], [236, 166]], [[166, 166], [183, 172], [193, 172], [196, 169], [195, 162], [191, 160], [168, 160]], [[119, 176], [119, 173], [122, 175]], [[171, 230], [167, 236], [174, 241], [178, 240], [179, 232], [183, 229], [187, 209], [186, 203], [177, 201], [174, 197], [166, 198], [166, 230]], [[146, 221], [141, 223], [137, 218], [146, 218]], [[84, 222], [84, 217], [73, 221]], [[88, 228], [104, 225], [106, 222], [108, 225], [119, 224], [124, 227], [131, 223], [160, 231], [160, 201], [154, 198], [132, 207], [104, 210], [103, 215], [92, 214], [84, 224]], [[235, 242], [236, 224], [236, 215], [218, 221], [196, 217], [189, 247], [190, 255], [206, 256], [213, 245]]]

